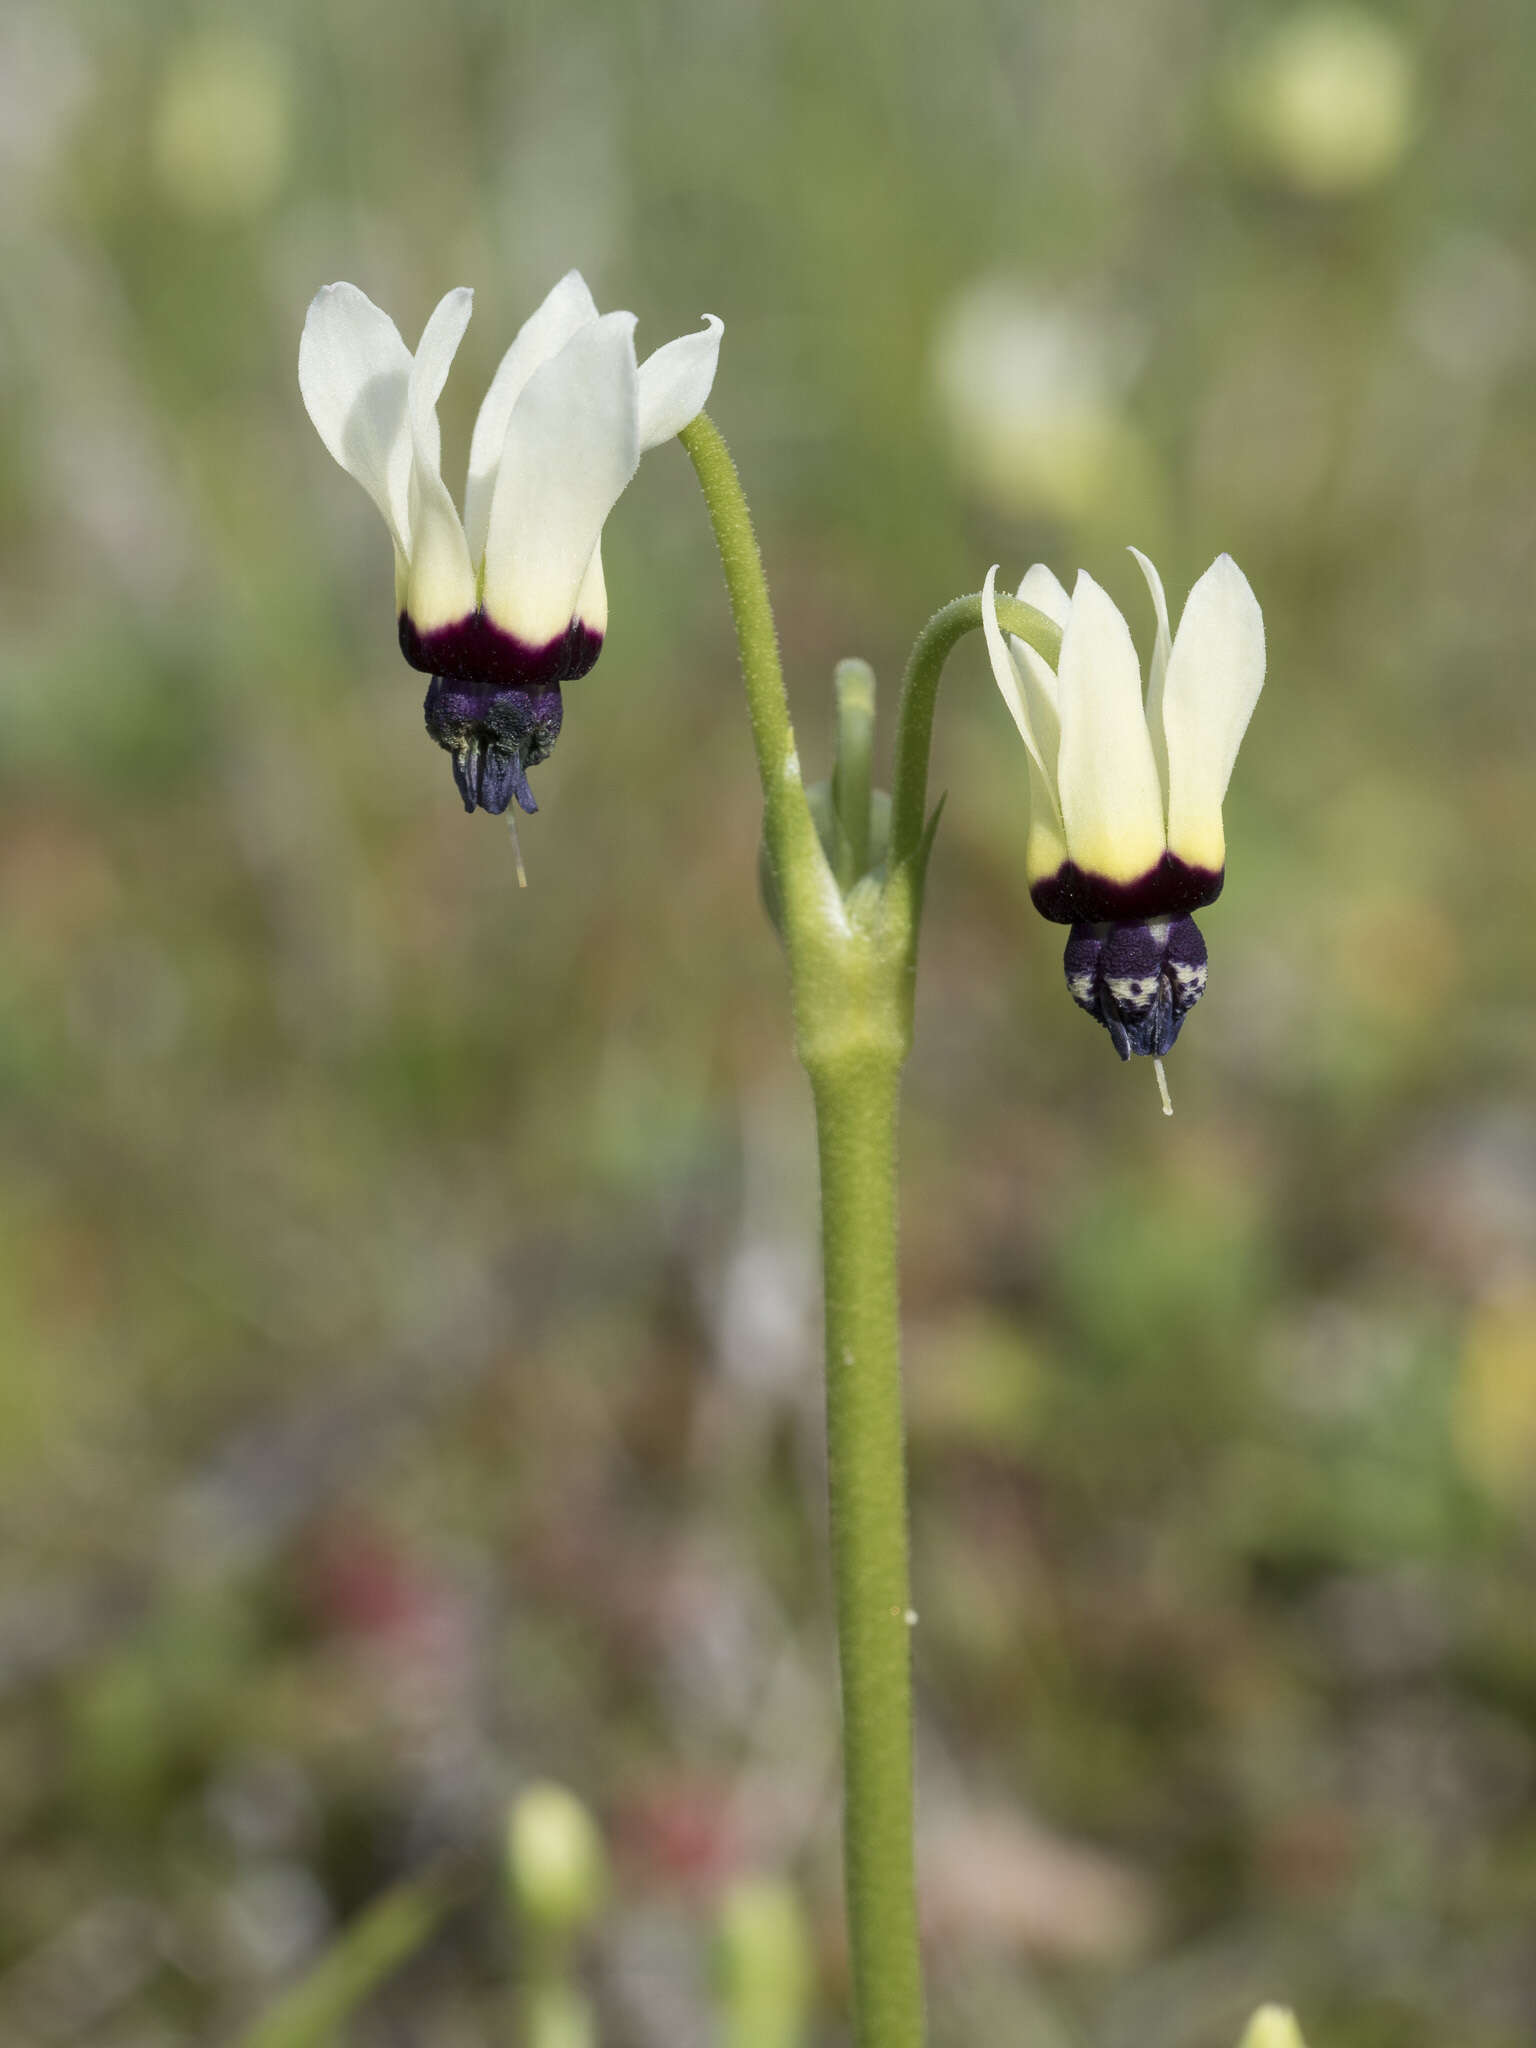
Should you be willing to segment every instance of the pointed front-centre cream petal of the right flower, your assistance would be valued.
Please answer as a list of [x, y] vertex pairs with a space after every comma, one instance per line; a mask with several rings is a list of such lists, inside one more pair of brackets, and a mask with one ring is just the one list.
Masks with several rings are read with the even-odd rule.
[[1163, 797], [1130, 629], [1085, 569], [1061, 635], [1057, 690], [1057, 791], [1071, 858], [1110, 881], [1135, 881], [1163, 854]]

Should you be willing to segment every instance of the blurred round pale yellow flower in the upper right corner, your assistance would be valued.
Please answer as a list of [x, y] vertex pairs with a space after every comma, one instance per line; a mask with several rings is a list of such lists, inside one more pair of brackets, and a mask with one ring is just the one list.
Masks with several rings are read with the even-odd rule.
[[1243, 47], [1227, 119], [1251, 166], [1309, 199], [1382, 184], [1413, 141], [1417, 76], [1401, 29], [1352, 6], [1307, 6]]

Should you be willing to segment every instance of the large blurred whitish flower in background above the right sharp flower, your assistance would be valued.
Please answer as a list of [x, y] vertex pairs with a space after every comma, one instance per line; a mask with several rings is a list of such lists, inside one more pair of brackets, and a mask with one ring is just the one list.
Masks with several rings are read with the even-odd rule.
[[954, 463], [997, 512], [1087, 518], [1108, 500], [1141, 510], [1147, 446], [1124, 393], [1137, 328], [1001, 279], [969, 285], [934, 338], [934, 383]]

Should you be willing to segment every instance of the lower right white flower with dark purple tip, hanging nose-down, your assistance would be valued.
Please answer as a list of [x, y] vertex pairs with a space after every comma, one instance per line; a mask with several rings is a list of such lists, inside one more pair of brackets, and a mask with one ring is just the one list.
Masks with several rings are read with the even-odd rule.
[[1190, 911], [1221, 895], [1221, 803], [1264, 686], [1264, 618], [1231, 555], [1212, 561], [1169, 633], [1163, 582], [1130, 553], [1157, 618], [1145, 698], [1130, 629], [1087, 571], [1071, 596], [1042, 563], [1018, 586], [1061, 627], [1055, 668], [999, 629], [995, 569], [981, 602], [991, 670], [1028, 750], [1030, 897], [1071, 926], [1067, 987], [1120, 1059], [1167, 1053], [1204, 993]]

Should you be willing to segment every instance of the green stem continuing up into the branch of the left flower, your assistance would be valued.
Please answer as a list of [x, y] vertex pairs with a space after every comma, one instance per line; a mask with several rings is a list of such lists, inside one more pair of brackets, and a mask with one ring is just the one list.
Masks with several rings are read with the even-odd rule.
[[[868, 924], [844, 903], [801, 786], [768, 584], [741, 481], [702, 414], [684, 428], [682, 444], [705, 492], [731, 594], [762, 776], [764, 840], [782, 901], [797, 1047], [817, 1114], [854, 2028], [860, 2048], [918, 2048], [924, 2005], [911, 1860], [911, 1642], [895, 1268], [895, 1112], [909, 1036], [911, 899], [897, 893], [889, 915]], [[840, 739], [854, 756], [864, 745], [856, 733], [856, 696], [850, 678], [840, 688]], [[866, 770], [856, 758], [848, 768], [844, 799], [852, 807]]]

